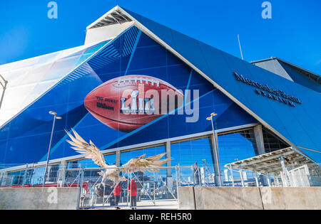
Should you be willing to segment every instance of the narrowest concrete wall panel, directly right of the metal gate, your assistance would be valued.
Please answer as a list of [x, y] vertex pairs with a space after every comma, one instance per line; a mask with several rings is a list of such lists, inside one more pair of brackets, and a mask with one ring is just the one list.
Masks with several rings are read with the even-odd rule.
[[195, 195], [194, 187], [178, 188], [178, 209], [180, 210], [195, 210]]

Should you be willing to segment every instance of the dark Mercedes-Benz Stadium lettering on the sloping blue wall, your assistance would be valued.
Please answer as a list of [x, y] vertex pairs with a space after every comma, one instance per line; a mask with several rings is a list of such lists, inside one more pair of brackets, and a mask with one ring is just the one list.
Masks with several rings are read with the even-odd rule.
[[244, 78], [243, 75], [239, 75], [238, 73], [234, 73], [234, 75], [236, 80], [243, 82], [247, 85], [252, 85], [254, 87], [257, 87], [257, 89], [255, 89], [255, 92], [258, 95], [267, 97], [271, 100], [282, 102], [285, 105], [290, 105], [291, 107], [295, 107], [295, 103], [302, 104], [299, 98], [293, 97], [291, 95], [287, 95], [282, 90], [275, 90], [272, 87], [269, 87], [268, 85], [263, 85], [260, 82], [256, 82], [248, 78]]

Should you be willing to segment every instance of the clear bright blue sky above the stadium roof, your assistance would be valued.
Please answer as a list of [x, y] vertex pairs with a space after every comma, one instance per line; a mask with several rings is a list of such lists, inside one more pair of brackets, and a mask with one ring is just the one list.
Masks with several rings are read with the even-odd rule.
[[116, 5], [244, 59], [279, 57], [321, 74], [321, 1], [270, 0], [272, 19], [263, 19], [264, 0], [56, 0], [58, 19], [49, 19], [49, 0], [0, 0], [0, 65], [81, 46], [86, 26]]

